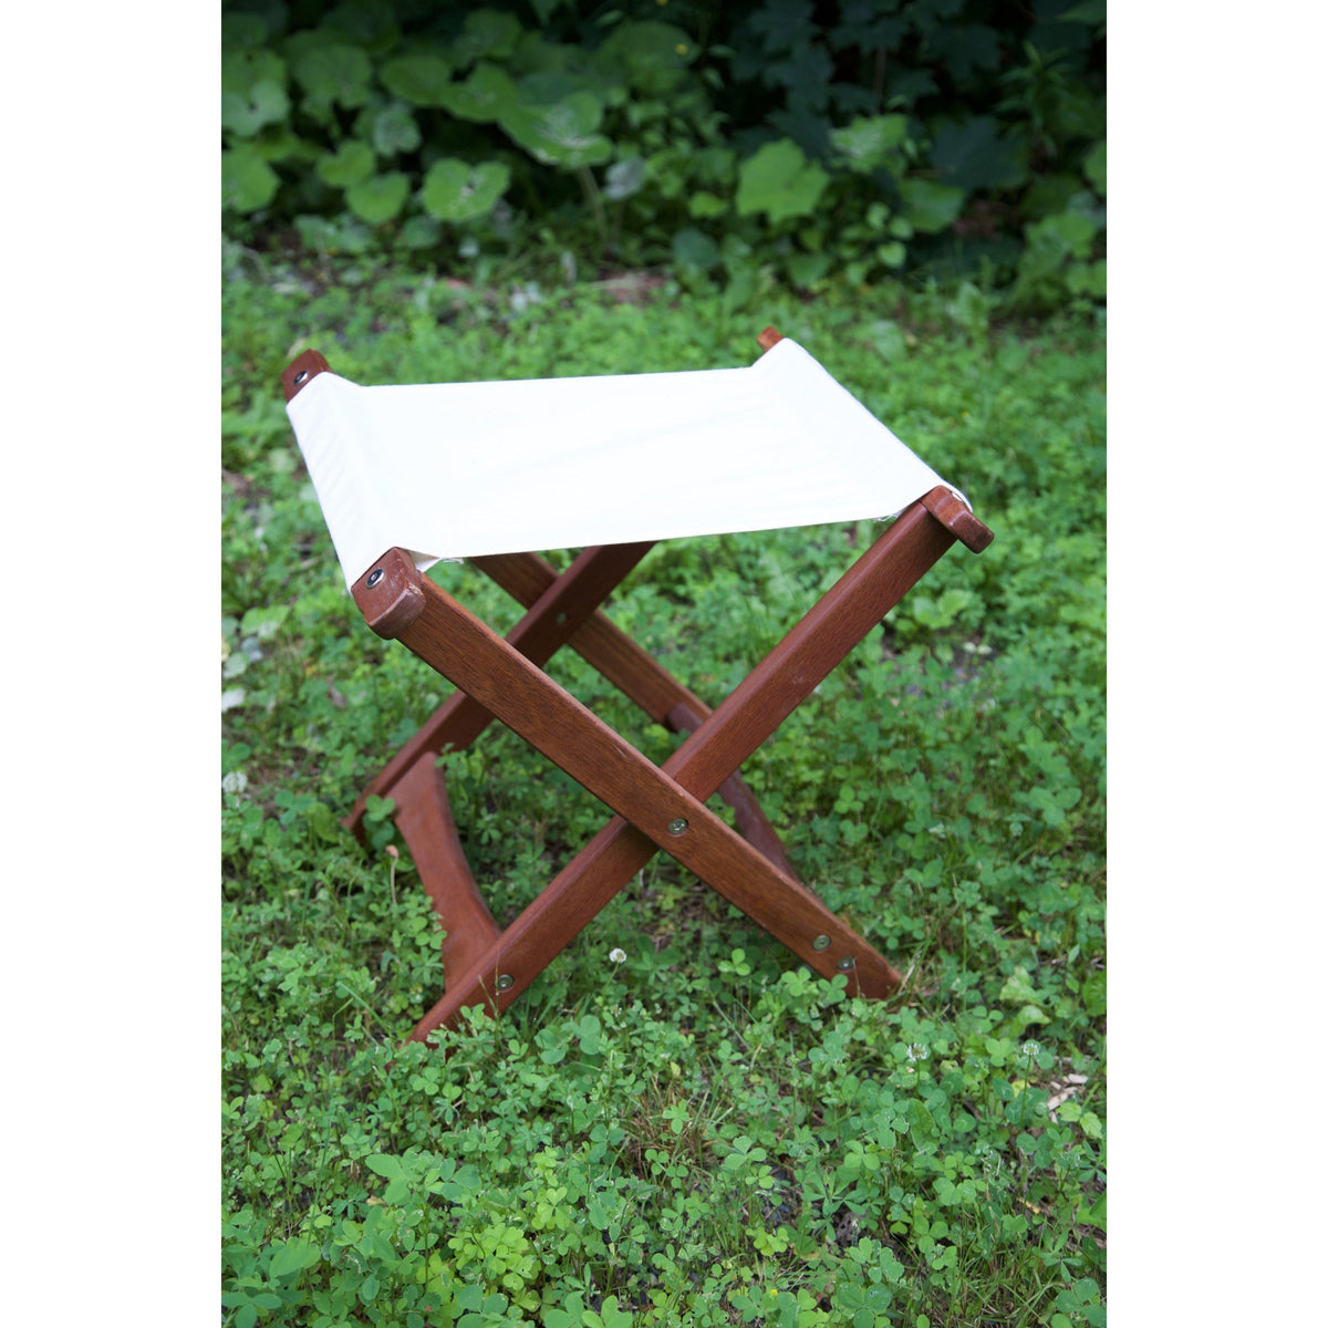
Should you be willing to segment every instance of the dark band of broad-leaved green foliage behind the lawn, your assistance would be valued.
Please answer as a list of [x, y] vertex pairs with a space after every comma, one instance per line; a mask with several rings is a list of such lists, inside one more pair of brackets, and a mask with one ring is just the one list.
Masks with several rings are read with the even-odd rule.
[[1009, 286], [1015, 312], [1104, 295], [1092, 5], [235, 0], [223, 48], [240, 239], [452, 266], [556, 236], [738, 297], [904, 270]]

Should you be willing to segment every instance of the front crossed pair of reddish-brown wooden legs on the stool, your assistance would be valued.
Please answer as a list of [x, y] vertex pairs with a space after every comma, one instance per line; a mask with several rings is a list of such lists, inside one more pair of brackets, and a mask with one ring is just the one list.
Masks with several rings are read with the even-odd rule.
[[[482, 623], [414, 572], [397, 551], [355, 587], [380, 635], [396, 636], [477, 699], [579, 784], [620, 813], [526, 912], [461, 975], [417, 1031], [467, 1004], [505, 1008], [664, 847], [810, 967], [846, 971], [866, 995], [900, 977], [798, 882], [710, 814], [709, 797], [948, 548], [954, 534], [911, 507], [845, 574], [748, 680], [656, 769]], [[643, 857], [644, 855], [644, 857]], [[515, 969], [515, 971], [511, 971]], [[430, 1024], [430, 1019], [433, 1023]]]

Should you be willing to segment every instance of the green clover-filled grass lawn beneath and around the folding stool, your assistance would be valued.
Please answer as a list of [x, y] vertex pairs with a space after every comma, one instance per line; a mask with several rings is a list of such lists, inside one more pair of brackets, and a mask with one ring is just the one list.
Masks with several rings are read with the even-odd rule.
[[[1105, 1321], [1104, 336], [991, 327], [976, 293], [513, 299], [235, 260], [227, 1323]], [[657, 857], [499, 1023], [446, 1058], [402, 1048], [442, 987], [437, 924], [390, 819], [363, 847], [337, 818], [448, 685], [345, 595], [280, 369], [305, 345], [367, 382], [708, 368], [750, 361], [768, 323], [997, 535], [947, 554], [745, 769], [903, 993], [811, 977]], [[679, 540], [611, 615], [714, 704], [870, 535]], [[515, 619], [465, 567], [436, 575]], [[668, 754], [575, 657], [552, 671]], [[499, 923], [606, 818], [497, 728], [448, 780]]]

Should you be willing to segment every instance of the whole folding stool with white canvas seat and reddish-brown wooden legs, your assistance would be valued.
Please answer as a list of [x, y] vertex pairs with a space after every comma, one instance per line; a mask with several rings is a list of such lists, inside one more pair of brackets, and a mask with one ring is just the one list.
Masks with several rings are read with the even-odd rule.
[[[801, 347], [773, 328], [757, 340], [745, 369], [367, 388], [305, 351], [282, 376], [356, 606], [458, 688], [344, 822], [359, 831], [368, 798], [392, 798], [441, 915], [445, 991], [417, 1040], [466, 1007], [506, 1009], [660, 849], [850, 992], [903, 981], [798, 879], [737, 772], [955, 540], [980, 552], [992, 533]], [[659, 539], [891, 513], [713, 710], [599, 608]], [[580, 554], [558, 574], [534, 548]], [[525, 606], [506, 637], [422, 575], [440, 559], [465, 559]], [[688, 734], [661, 766], [544, 672], [563, 645]], [[506, 930], [438, 768], [493, 718], [615, 813]], [[737, 831], [706, 807], [714, 793]]]

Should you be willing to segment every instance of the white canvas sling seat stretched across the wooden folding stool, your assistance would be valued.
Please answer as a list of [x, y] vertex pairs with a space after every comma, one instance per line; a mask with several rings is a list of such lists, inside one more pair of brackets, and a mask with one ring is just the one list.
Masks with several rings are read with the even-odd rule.
[[347, 586], [438, 559], [892, 517], [944, 481], [802, 347], [742, 369], [360, 386], [288, 404]]

